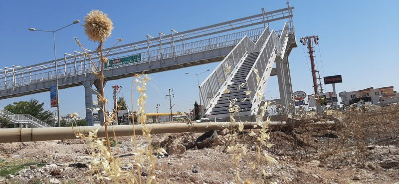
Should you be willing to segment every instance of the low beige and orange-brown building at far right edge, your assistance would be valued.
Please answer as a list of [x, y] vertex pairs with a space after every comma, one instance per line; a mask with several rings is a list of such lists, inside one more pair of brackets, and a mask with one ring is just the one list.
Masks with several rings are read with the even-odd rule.
[[341, 104], [351, 105], [359, 101], [371, 102], [375, 105], [387, 105], [399, 102], [399, 95], [394, 86], [382, 88], [366, 88], [359, 91], [343, 91], [339, 93]]

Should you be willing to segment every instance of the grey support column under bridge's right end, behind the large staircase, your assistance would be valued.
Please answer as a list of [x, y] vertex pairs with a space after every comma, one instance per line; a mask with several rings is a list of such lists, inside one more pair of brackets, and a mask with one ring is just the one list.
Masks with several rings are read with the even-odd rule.
[[295, 106], [294, 104], [291, 106], [292, 84], [288, 58], [280, 58], [276, 62], [276, 68], [281, 105], [285, 107], [286, 113], [290, 116], [294, 112]]

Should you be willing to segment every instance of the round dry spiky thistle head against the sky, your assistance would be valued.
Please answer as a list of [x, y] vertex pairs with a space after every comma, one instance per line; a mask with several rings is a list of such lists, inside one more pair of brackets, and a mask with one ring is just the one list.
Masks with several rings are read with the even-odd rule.
[[84, 31], [92, 41], [104, 42], [114, 29], [108, 15], [98, 9], [91, 10], [84, 17], [84, 22]]

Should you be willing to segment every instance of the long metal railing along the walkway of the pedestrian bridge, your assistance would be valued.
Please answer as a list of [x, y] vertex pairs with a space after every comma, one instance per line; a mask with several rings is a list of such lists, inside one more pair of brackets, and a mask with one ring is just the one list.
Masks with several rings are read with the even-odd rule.
[[[135, 62], [135, 63], [129, 63], [125, 64], [122, 66], [115, 66], [115, 67], [110, 67], [106, 68], [105, 70], [111, 70], [119, 67], [126, 67], [130, 65], [136, 65], [136, 64], [141, 64], [141, 63], [148, 63], [151, 61], [159, 61], [163, 59], [169, 59], [173, 57], [178, 57], [178, 56], [183, 56], [183, 55], [190, 55], [198, 52], [203, 52], [203, 51], [208, 51], [208, 50], [213, 50], [213, 49], [219, 49], [219, 48], [224, 48], [228, 46], [233, 46], [236, 45], [242, 37], [245, 35], [248, 36], [251, 40], [257, 40], [258, 37], [261, 35], [263, 30], [263, 27], [259, 28], [254, 28], [254, 29], [249, 29], [245, 31], [240, 31], [240, 32], [235, 32], [231, 34], [226, 34], [222, 36], [217, 36], [213, 38], [207, 38], [199, 41], [194, 41], [190, 43], [185, 43], [185, 44], [180, 44], [180, 45], [174, 45], [173, 47], [165, 47], [162, 48], [162, 51], [160, 49], [155, 49], [151, 50], [149, 53], [148, 52], [140, 52], [140, 53], [134, 53], [131, 55], [137, 55], [141, 54], [141, 62]], [[123, 57], [127, 57], [130, 55], [126, 55]], [[116, 58], [110, 58], [109, 60], [112, 59], [117, 59], [121, 57], [116, 57]], [[100, 62], [94, 62], [96, 67], [100, 66]], [[59, 65], [58, 69], [58, 79], [63, 79], [66, 77], [74, 77], [78, 75], [84, 75], [84, 74], [90, 74], [92, 73], [92, 67], [93, 64], [89, 63], [88, 59], [81, 61], [80, 63], [66, 63], [65, 66], [62, 68], [61, 65]], [[13, 87], [19, 87], [19, 86], [26, 86], [29, 84], [35, 84], [35, 83], [41, 83], [45, 81], [51, 81], [55, 80], [55, 71], [45, 71], [41, 73], [36, 73], [36, 74], [29, 74], [29, 75], [23, 75], [19, 74], [16, 75], [14, 79], [7, 79], [6, 81], [0, 81], [0, 90], [3, 89], [9, 89]]]

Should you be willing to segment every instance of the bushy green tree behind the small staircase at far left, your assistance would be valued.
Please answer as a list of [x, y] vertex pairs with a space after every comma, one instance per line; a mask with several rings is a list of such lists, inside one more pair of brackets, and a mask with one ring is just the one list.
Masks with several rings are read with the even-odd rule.
[[45, 111], [43, 106], [44, 102], [40, 103], [36, 99], [30, 99], [30, 101], [14, 102], [5, 106], [4, 109], [14, 114], [29, 114], [46, 122], [54, 117], [54, 113], [49, 110]]

